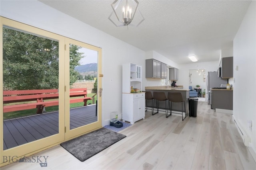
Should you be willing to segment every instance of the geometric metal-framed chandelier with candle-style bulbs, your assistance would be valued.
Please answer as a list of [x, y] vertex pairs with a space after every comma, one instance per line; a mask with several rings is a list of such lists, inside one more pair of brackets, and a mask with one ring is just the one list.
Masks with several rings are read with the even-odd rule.
[[[142, 21], [144, 21], [144, 17], [140, 13], [140, 10], [138, 9], [138, 5], [139, 5], [139, 2], [137, 0], [115, 0], [111, 4], [113, 12], [110, 14], [108, 19], [112, 23], [114, 23], [116, 27], [126, 26], [126, 25], [137, 27], [138, 25], [140, 25], [140, 23], [142, 23]], [[134, 16], [136, 12], [137, 12], [137, 15], [135, 20]]]

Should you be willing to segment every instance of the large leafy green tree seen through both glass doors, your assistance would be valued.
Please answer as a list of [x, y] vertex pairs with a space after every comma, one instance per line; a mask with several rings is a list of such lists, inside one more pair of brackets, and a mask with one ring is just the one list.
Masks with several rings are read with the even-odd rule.
[[[3, 86], [4, 90], [58, 88], [59, 43], [28, 33], [3, 28]], [[82, 53], [70, 45], [70, 84], [79, 73]]]

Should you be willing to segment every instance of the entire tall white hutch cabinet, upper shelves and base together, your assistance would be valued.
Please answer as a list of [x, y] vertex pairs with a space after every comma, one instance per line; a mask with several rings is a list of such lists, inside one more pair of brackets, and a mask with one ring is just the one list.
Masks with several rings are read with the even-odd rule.
[[131, 93], [131, 87], [142, 89], [142, 66], [125, 63], [122, 76], [122, 119], [134, 124], [145, 118], [145, 92]]

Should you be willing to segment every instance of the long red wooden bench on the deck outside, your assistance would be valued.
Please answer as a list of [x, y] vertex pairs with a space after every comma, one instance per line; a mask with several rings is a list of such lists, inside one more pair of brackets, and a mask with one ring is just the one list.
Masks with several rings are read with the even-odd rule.
[[[4, 104], [30, 102], [26, 104], [4, 105], [4, 113], [34, 108], [37, 108], [36, 113], [42, 113], [44, 107], [57, 106], [59, 104], [58, 100], [44, 101], [47, 99], [58, 99], [58, 89], [9, 90], [3, 91], [3, 95]], [[78, 96], [82, 96], [82, 98], [73, 98]], [[87, 88], [70, 89], [70, 103], [84, 102], [84, 106], [86, 106], [87, 100], [92, 100], [92, 98], [87, 97]]]

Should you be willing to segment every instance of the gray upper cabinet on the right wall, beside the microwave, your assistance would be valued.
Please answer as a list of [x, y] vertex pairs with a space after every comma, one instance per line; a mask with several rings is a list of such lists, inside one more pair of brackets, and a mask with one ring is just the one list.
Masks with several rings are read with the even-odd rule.
[[224, 57], [221, 60], [221, 78], [233, 77], [233, 57]]

